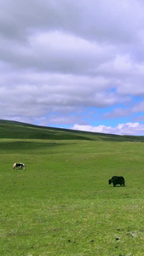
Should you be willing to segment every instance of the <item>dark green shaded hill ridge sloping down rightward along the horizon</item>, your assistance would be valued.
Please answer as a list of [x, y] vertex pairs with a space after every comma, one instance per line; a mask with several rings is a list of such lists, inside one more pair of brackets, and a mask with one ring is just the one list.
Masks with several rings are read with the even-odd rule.
[[0, 138], [144, 142], [144, 137], [142, 136], [120, 136], [90, 131], [76, 131], [49, 126], [31, 125], [5, 119], [0, 119]]

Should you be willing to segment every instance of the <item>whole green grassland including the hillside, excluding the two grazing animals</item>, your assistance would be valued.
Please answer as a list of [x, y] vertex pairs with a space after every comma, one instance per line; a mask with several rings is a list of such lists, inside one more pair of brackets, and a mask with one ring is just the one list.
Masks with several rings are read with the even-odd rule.
[[144, 255], [143, 137], [13, 122], [0, 136], [0, 255]]

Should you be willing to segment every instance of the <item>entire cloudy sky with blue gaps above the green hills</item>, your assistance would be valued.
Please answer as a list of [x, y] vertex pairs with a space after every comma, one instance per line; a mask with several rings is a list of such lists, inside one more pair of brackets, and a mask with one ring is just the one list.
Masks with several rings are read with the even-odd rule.
[[144, 135], [144, 1], [0, 0], [0, 119]]

